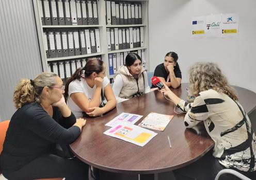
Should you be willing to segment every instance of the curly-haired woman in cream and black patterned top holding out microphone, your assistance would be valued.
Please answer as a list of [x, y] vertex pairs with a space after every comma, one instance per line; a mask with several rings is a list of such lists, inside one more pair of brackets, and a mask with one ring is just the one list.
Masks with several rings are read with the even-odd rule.
[[[196, 97], [186, 103], [170, 91], [161, 91], [186, 113], [184, 123], [193, 128], [204, 123], [215, 142], [210, 152], [195, 163], [174, 171], [176, 179], [214, 179], [225, 168], [252, 179], [256, 177], [256, 141], [250, 120], [237, 101], [234, 89], [214, 63], [196, 63], [189, 69], [190, 92]], [[223, 179], [235, 179], [231, 175]], [[222, 178], [221, 178], [222, 179]]]

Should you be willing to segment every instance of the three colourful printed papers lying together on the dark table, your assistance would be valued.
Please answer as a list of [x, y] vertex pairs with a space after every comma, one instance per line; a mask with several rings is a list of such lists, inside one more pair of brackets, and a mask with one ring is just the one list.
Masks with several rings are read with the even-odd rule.
[[153, 137], [155, 137], [157, 133], [141, 127], [164, 131], [173, 116], [158, 113], [150, 113], [139, 124], [140, 127], [134, 125], [134, 123], [137, 122], [141, 117], [142, 116], [137, 114], [122, 113], [105, 124], [112, 128], [105, 131], [104, 134], [143, 147]]

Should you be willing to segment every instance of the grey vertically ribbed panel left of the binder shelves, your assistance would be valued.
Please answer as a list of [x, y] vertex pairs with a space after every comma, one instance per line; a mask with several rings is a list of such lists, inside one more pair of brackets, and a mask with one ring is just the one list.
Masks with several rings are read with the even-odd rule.
[[0, 121], [15, 112], [12, 95], [21, 78], [42, 72], [31, 0], [0, 1]]

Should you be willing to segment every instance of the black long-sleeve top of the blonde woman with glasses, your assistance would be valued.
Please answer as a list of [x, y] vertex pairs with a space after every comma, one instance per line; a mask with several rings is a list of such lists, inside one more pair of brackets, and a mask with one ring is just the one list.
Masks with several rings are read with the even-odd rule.
[[14, 172], [51, 151], [54, 143], [69, 144], [81, 133], [72, 126], [76, 118], [71, 113], [63, 117], [58, 107], [53, 107], [50, 117], [38, 103], [28, 103], [17, 110], [6, 133], [0, 166], [4, 172]]

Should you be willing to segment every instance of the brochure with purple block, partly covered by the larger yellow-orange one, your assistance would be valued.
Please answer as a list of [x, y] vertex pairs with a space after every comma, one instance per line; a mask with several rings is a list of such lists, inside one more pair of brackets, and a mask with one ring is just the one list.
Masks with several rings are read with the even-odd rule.
[[141, 117], [142, 116], [137, 115], [137, 114], [121, 113], [120, 115], [118, 115], [117, 117], [115, 117], [114, 119], [112, 119], [111, 121], [106, 123], [105, 125], [114, 127], [116, 124], [119, 124], [120, 122], [127, 122], [127, 123], [134, 124]]

